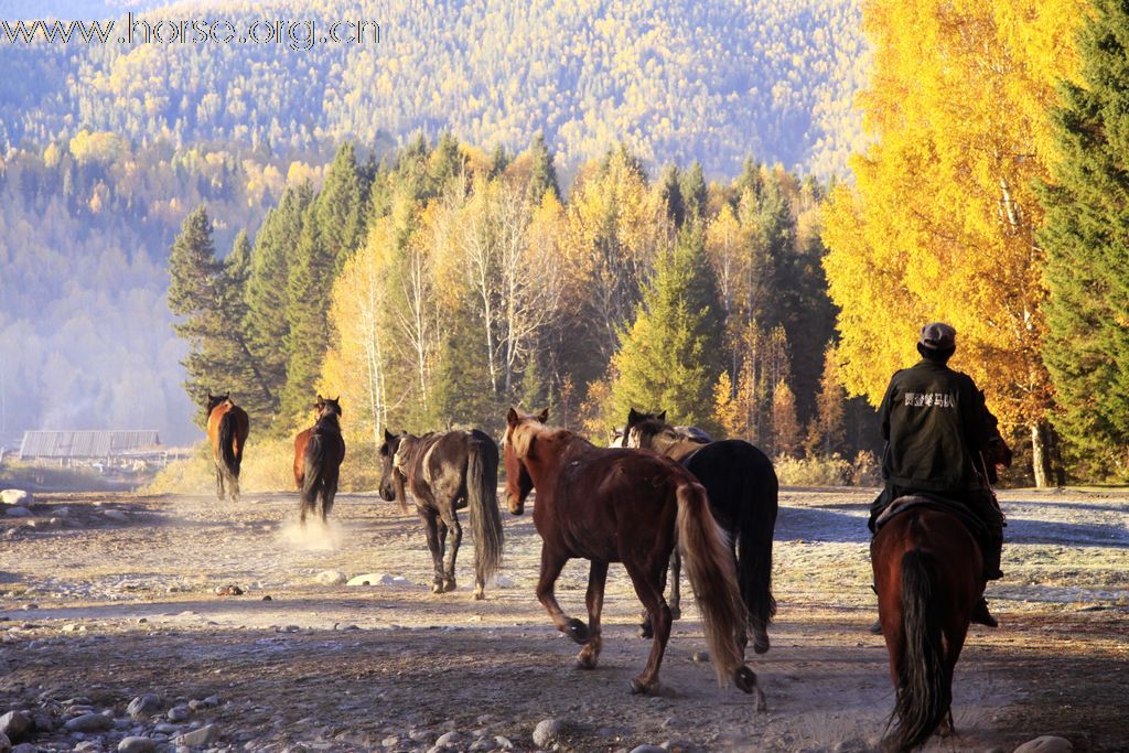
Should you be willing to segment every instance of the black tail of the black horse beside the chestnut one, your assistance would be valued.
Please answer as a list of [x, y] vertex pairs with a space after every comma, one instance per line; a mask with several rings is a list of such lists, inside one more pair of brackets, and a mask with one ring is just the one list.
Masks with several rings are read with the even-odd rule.
[[756, 633], [753, 650], [769, 650], [764, 632], [776, 616], [772, 596], [772, 536], [779, 508], [780, 484], [772, 462], [755, 447], [756, 457], [745, 469], [737, 524], [737, 583], [741, 599]]

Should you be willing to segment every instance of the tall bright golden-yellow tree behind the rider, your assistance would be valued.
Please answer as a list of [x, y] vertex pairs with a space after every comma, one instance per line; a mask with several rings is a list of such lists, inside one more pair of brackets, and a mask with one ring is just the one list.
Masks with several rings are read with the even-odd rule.
[[1042, 221], [1033, 184], [1054, 159], [1048, 108], [1073, 75], [1079, 0], [876, 0], [864, 21], [874, 77], [860, 96], [874, 145], [824, 217], [840, 368], [877, 404], [928, 321], [956, 327], [953, 367], [1005, 424], [1035, 426], [1051, 395], [1041, 359]]

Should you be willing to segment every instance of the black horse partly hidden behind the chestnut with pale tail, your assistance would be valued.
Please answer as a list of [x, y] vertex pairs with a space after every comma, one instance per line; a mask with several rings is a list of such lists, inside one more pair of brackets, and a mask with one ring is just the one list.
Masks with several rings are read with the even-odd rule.
[[[735, 548], [741, 598], [753, 629], [753, 650], [769, 650], [768, 625], [776, 614], [772, 597], [772, 535], [779, 482], [772, 461], [742, 439], [701, 444], [666, 423], [666, 412], [628, 413], [623, 430], [628, 447], [653, 449], [682, 463], [709, 496], [714, 518]], [[672, 575], [677, 599], [677, 562]], [[676, 608], [676, 603], [672, 608]], [[648, 627], [644, 625], [646, 632]]]

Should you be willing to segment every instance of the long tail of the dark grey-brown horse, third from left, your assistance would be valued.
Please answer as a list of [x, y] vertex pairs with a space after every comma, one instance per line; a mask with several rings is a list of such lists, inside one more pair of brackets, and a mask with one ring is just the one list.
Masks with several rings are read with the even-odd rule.
[[481, 587], [501, 567], [502, 528], [498, 513], [498, 446], [478, 431], [467, 439], [466, 497], [474, 531], [475, 593], [481, 595]]

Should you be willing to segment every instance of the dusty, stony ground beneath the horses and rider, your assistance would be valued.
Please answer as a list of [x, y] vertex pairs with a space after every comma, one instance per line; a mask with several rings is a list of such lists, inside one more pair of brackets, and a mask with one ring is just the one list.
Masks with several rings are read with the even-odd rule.
[[[506, 516], [504, 572], [475, 602], [470, 536], [458, 589], [431, 595], [419, 522], [373, 496], [339, 497], [330, 527], [306, 532], [287, 493], [40, 496], [26, 514], [0, 510], [0, 732], [20, 753], [868, 750], [893, 704], [882, 639], [866, 631], [872, 496], [782, 493], [779, 615], [772, 650], [751, 660], [763, 713], [694, 660], [689, 603], [663, 691], [630, 694], [649, 645], [618, 567], [601, 666], [574, 668], [576, 645], [533, 595], [528, 514]], [[1047, 734], [1127, 751], [1129, 492], [1003, 499], [1007, 578], [989, 589], [1003, 627], [972, 630], [960, 734], [928, 750], [1010, 752]], [[560, 583], [581, 618], [586, 583], [581, 562]]]

